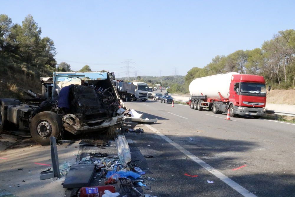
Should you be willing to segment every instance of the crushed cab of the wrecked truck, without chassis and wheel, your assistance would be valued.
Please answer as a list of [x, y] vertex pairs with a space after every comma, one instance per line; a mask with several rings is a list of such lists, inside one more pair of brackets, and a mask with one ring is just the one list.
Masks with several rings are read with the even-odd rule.
[[[56, 113], [64, 130], [73, 134], [105, 131], [123, 122], [122, 111], [118, 111], [122, 103], [109, 72], [55, 72], [52, 81], [44, 79], [42, 96], [58, 102]], [[65, 100], [68, 107], [60, 104]]]

